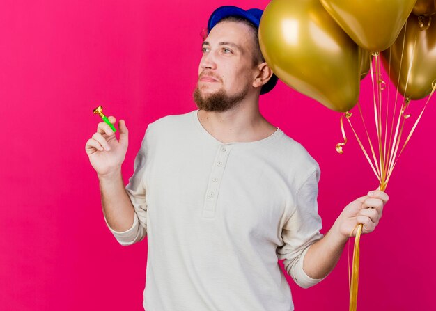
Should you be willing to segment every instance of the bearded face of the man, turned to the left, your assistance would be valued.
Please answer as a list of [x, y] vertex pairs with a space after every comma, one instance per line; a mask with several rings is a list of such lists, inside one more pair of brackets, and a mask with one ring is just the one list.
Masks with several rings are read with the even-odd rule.
[[194, 101], [199, 109], [226, 111], [244, 99], [256, 74], [254, 33], [241, 22], [220, 22], [203, 42]]

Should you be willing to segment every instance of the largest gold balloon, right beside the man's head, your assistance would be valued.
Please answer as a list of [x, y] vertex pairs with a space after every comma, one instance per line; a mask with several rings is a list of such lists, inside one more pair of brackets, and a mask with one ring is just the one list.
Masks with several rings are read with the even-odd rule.
[[357, 103], [361, 49], [319, 0], [272, 0], [259, 41], [267, 64], [291, 88], [334, 111]]

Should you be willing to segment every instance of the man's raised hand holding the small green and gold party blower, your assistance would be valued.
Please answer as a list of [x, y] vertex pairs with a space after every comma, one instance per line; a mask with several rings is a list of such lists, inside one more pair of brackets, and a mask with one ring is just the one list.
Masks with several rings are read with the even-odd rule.
[[[109, 122], [115, 124], [116, 119], [109, 117]], [[114, 131], [104, 122], [98, 123], [97, 132], [86, 142], [85, 150], [91, 165], [99, 175], [104, 177], [120, 171], [129, 144], [129, 131], [125, 121], [118, 122], [120, 140], [116, 140]]]

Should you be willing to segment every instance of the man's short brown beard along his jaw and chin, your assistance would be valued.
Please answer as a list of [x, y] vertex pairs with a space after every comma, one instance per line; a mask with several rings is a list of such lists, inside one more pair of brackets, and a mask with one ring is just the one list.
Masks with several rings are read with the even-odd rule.
[[203, 98], [197, 87], [194, 90], [194, 102], [199, 109], [205, 111], [223, 112], [228, 111], [244, 99], [248, 94], [249, 88], [246, 87], [235, 95], [228, 95], [224, 90], [219, 90], [217, 93], [210, 94]]

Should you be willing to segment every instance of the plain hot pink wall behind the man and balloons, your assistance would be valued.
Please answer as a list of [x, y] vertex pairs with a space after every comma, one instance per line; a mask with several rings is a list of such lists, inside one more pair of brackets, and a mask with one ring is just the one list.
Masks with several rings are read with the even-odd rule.
[[[267, 2], [1, 1], [1, 310], [142, 310], [147, 244], [124, 248], [104, 224], [84, 150], [99, 122], [92, 110], [102, 104], [126, 120], [127, 182], [148, 123], [196, 109], [200, 33], [212, 10]], [[260, 108], [320, 164], [323, 232], [377, 187], [348, 127], [345, 153], [334, 150], [339, 113], [281, 82]], [[362, 237], [359, 310], [434, 304], [435, 115], [433, 100], [394, 171], [379, 227]], [[348, 310], [347, 256], [345, 248], [316, 287], [289, 278], [297, 310]]]

